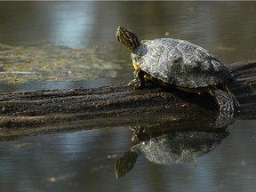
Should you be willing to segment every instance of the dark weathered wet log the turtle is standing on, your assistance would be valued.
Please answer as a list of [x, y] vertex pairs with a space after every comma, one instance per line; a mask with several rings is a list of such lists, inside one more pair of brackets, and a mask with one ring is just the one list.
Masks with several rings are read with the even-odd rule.
[[[241, 104], [240, 117], [255, 118], [256, 61], [232, 64], [230, 70], [237, 78], [230, 88]], [[218, 113], [208, 94], [156, 85], [134, 91], [126, 83], [97, 89], [2, 93], [0, 109], [0, 140], [106, 126], [196, 121], [198, 116]]]

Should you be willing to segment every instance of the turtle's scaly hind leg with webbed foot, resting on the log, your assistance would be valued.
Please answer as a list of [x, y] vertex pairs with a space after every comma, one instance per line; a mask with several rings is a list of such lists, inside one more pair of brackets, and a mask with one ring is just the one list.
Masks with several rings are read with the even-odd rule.
[[212, 88], [209, 90], [209, 92], [218, 102], [220, 106], [220, 112], [225, 114], [232, 114], [235, 113], [236, 108], [239, 107], [239, 103], [232, 93], [224, 92], [217, 88]]

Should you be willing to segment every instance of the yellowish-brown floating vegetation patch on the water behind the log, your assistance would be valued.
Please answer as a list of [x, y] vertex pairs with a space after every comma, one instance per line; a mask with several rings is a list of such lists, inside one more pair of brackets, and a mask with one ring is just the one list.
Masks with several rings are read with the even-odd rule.
[[111, 59], [106, 50], [98, 46], [77, 50], [53, 44], [0, 44], [0, 82], [116, 77], [120, 60]]

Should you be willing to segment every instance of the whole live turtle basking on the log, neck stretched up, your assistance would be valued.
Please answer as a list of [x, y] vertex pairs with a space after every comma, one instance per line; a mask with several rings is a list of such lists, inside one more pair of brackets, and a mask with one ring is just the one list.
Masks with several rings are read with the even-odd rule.
[[234, 112], [239, 106], [226, 85], [233, 76], [204, 48], [172, 38], [140, 42], [123, 27], [117, 28], [116, 38], [132, 52], [134, 88], [142, 87], [146, 78], [188, 92], [209, 92], [225, 113]]

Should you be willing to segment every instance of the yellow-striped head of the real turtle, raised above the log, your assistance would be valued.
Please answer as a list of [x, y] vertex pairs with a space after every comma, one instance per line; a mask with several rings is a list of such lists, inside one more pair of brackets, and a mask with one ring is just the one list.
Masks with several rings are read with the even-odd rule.
[[131, 30], [121, 26], [116, 30], [116, 39], [124, 44], [130, 52], [140, 45], [138, 37]]

